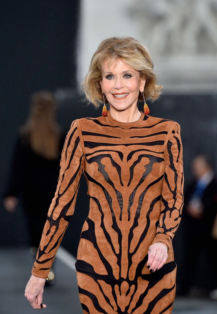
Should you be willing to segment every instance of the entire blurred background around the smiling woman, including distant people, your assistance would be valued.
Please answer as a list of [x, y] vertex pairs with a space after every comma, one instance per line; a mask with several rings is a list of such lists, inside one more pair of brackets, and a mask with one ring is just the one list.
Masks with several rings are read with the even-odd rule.
[[[181, 126], [185, 204], [173, 239], [173, 313], [216, 313], [217, 0], [3, 0], [0, 23], [0, 313], [34, 312], [24, 290], [65, 136], [74, 119], [101, 116], [103, 106], [82, 102], [79, 84], [97, 46], [111, 36], [132, 36], [147, 47], [163, 85], [161, 98], [147, 102], [150, 115]], [[74, 263], [89, 211], [86, 192], [82, 176], [53, 282], [44, 288], [47, 313], [82, 313]]]

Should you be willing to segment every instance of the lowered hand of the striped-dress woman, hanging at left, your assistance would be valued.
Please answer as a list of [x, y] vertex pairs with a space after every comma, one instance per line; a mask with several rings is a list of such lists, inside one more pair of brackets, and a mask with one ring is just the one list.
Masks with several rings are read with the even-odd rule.
[[24, 295], [34, 309], [47, 307], [45, 304], [42, 304], [45, 281], [45, 278], [39, 278], [32, 275], [26, 285]]

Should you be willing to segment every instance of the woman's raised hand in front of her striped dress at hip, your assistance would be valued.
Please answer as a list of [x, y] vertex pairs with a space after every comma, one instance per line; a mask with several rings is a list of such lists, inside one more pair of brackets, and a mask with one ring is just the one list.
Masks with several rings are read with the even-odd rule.
[[[162, 242], [155, 242], [149, 247], [147, 268], [150, 267], [151, 273], [161, 268], [166, 263], [168, 257], [167, 251], [167, 246]], [[151, 269], [153, 271], [151, 271]]]

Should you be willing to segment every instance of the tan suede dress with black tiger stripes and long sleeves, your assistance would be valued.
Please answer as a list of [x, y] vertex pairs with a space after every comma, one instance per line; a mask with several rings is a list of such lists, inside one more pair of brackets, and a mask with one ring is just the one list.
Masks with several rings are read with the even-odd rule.
[[[80, 235], [78, 292], [87, 314], [169, 314], [176, 291], [172, 239], [183, 208], [180, 125], [144, 114], [135, 122], [106, 117], [72, 122], [60, 174], [32, 274], [46, 278], [69, 219], [80, 177], [90, 211]], [[168, 259], [151, 273], [148, 249], [168, 245]]]

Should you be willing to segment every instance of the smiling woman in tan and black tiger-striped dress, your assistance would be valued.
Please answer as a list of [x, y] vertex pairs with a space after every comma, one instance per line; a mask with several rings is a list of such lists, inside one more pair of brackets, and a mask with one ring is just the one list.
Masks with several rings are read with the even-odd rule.
[[[177, 122], [137, 101], [161, 94], [149, 52], [132, 37], [103, 40], [84, 80], [102, 116], [72, 122], [60, 176], [25, 290], [34, 308], [74, 212], [83, 172], [90, 211], [75, 263], [83, 313], [171, 313], [176, 289], [172, 239], [183, 207]], [[107, 111], [106, 104], [110, 109]]]

